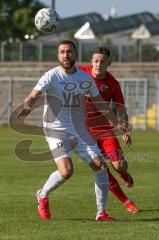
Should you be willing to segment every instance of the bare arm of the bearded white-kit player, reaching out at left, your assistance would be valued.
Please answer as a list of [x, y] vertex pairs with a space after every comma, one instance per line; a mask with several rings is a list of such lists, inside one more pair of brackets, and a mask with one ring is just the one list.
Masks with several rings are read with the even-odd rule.
[[23, 108], [20, 110], [20, 112], [17, 114], [17, 117], [24, 117], [27, 116], [32, 109], [32, 106], [36, 102], [37, 98], [42, 94], [41, 91], [38, 90], [32, 90], [31, 93], [26, 97], [24, 100]]

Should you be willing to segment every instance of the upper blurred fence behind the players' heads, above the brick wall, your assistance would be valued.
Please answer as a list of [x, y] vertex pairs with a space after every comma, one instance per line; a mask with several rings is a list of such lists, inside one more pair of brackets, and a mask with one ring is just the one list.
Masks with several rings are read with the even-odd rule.
[[[112, 45], [99, 42], [77, 42], [79, 62], [90, 61], [92, 49], [99, 45], [110, 48], [113, 61], [142, 62], [159, 61], [159, 51], [153, 45], [123, 44]], [[57, 59], [57, 43], [43, 43], [40, 40], [0, 42], [0, 61], [55, 61]], [[145, 47], [146, 46], [146, 47]]]

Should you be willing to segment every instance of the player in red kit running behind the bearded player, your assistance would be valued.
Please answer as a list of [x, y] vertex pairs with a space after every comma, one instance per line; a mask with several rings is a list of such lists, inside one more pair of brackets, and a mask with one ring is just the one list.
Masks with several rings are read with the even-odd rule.
[[[124, 98], [119, 82], [107, 71], [110, 64], [110, 50], [106, 47], [97, 47], [93, 51], [92, 66], [80, 66], [80, 68], [93, 76], [102, 98], [105, 102], [115, 103], [116, 114], [120, 118], [120, 121], [128, 125], [128, 115], [124, 106]], [[125, 185], [132, 187], [133, 179], [127, 171], [128, 164], [112, 126], [102, 113], [96, 109], [89, 97], [86, 99], [86, 106], [86, 125], [88, 131], [97, 141], [103, 154], [109, 159]], [[131, 145], [130, 136], [128, 143], [128, 145]], [[109, 169], [108, 175], [109, 190], [125, 205], [129, 212], [136, 213], [138, 211], [137, 207], [122, 191], [118, 181]]]

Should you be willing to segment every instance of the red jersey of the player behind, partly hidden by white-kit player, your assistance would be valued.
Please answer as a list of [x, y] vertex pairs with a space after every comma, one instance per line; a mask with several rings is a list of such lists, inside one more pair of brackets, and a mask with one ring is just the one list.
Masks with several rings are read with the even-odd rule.
[[[80, 66], [80, 69], [92, 76], [92, 66]], [[107, 71], [103, 79], [94, 78], [94, 80], [105, 102], [110, 103], [112, 101], [124, 105], [124, 98], [119, 82], [111, 73]], [[103, 109], [103, 111], [104, 110], [105, 109]], [[86, 99], [86, 125], [91, 135], [98, 135], [101, 130], [111, 130], [108, 120], [99, 112], [95, 105], [92, 104], [90, 98]], [[100, 135], [103, 134], [100, 133]]]

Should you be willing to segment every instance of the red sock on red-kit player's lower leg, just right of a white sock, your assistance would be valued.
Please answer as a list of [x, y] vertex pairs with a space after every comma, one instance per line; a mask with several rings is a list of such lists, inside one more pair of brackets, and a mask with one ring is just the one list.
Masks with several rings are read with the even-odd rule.
[[108, 176], [109, 176], [109, 191], [122, 203], [125, 203], [128, 200], [128, 197], [125, 195], [121, 187], [119, 186], [118, 181], [115, 177], [111, 174], [109, 169], [107, 169]]

